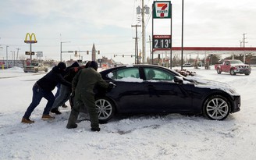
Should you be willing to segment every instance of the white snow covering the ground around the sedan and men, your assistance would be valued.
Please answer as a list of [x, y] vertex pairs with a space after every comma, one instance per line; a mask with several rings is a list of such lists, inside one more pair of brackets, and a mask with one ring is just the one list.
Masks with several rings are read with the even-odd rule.
[[35, 123], [23, 124], [34, 82], [45, 73], [0, 70], [0, 159], [254, 159], [256, 69], [250, 76], [187, 69], [197, 73], [195, 78], [235, 88], [241, 95], [240, 112], [224, 121], [180, 114], [117, 116], [95, 133], [88, 121], [67, 130], [70, 108], [60, 108], [62, 115], [50, 122], [41, 120], [42, 99], [30, 117]]

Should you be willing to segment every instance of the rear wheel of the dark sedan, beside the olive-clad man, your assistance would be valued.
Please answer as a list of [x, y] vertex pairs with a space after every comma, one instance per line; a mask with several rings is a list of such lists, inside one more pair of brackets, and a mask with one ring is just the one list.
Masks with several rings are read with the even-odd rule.
[[100, 123], [107, 123], [116, 112], [116, 107], [108, 98], [96, 98], [95, 105], [98, 109], [98, 120]]

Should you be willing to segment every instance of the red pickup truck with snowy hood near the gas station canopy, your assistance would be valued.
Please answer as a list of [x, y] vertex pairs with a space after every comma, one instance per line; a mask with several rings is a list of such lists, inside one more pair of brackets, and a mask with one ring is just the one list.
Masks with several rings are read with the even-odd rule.
[[222, 64], [215, 64], [215, 69], [218, 74], [222, 72], [230, 73], [231, 75], [236, 75], [236, 73], [250, 75], [251, 74], [251, 66], [244, 64], [240, 60], [232, 59], [225, 60]]

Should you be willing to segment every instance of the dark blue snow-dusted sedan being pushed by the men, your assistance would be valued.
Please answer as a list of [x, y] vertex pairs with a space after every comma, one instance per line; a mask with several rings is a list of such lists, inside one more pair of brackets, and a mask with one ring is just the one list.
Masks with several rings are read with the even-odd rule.
[[183, 113], [222, 120], [240, 111], [240, 95], [227, 84], [189, 79], [162, 66], [118, 66], [100, 73], [116, 85], [95, 94], [101, 123], [118, 113]]

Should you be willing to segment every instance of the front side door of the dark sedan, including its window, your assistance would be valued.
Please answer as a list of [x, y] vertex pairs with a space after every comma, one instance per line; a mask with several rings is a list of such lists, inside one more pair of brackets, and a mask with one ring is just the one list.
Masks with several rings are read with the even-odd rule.
[[[155, 72], [151, 77], [149, 73]], [[185, 112], [192, 98], [183, 84], [174, 82], [174, 74], [164, 69], [144, 68], [144, 108], [148, 112]]]

